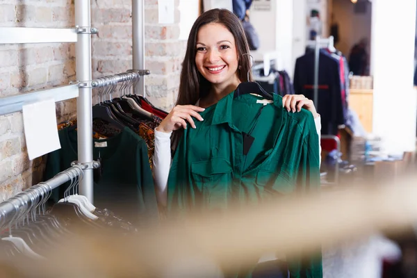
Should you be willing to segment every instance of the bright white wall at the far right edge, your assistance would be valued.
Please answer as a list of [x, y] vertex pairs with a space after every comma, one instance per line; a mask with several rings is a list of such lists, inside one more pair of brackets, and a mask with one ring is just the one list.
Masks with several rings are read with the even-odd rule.
[[373, 0], [372, 5], [373, 131], [389, 152], [414, 151], [416, 0]]

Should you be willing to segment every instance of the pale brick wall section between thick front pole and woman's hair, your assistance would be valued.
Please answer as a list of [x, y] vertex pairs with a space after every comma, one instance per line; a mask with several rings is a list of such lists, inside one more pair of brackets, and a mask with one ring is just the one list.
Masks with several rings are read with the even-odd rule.
[[[158, 1], [145, 1], [146, 95], [155, 106], [170, 111], [177, 99], [179, 72], [186, 42], [179, 41], [179, 1], [174, 24], [158, 24]], [[93, 76], [125, 72], [132, 68], [131, 1], [94, 1], [92, 25]]]

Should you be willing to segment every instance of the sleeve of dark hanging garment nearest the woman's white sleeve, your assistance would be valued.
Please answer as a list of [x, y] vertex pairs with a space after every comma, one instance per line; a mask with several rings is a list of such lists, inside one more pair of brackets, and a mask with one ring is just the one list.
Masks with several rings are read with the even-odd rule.
[[[151, 167], [149, 167], [149, 160], [147, 154], [147, 146], [145, 141], [141, 140], [136, 148], [136, 179], [138, 180], [138, 187], [142, 192], [142, 199], [144, 207], [141, 215], [144, 215], [147, 220], [158, 219], [158, 205], [156, 203], [156, 195], [154, 188], [154, 179], [152, 178]], [[142, 205], [143, 206], [143, 205]]]

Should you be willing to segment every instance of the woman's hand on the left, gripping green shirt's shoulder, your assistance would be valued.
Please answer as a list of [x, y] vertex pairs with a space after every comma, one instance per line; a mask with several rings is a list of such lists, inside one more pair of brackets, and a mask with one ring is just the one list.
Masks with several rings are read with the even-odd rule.
[[187, 129], [186, 120], [190, 123], [193, 129], [195, 129], [195, 123], [192, 117], [202, 121], [203, 118], [198, 113], [202, 111], [204, 111], [204, 108], [194, 105], [177, 105], [172, 108], [172, 111], [165, 117], [161, 124], [156, 127], [156, 130], [170, 133], [171, 131], [181, 128], [181, 126], [184, 129]]

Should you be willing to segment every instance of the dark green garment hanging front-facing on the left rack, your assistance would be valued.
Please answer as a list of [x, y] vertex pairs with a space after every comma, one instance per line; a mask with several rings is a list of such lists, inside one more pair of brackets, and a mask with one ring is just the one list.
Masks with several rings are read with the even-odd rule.
[[[58, 132], [61, 149], [47, 155], [44, 180], [51, 179], [77, 161], [77, 132]], [[94, 183], [95, 206], [108, 208], [133, 224], [158, 218], [154, 181], [145, 141], [129, 128], [112, 138], [92, 139], [93, 159], [101, 161], [101, 177]], [[54, 190], [54, 202], [68, 185]]]

